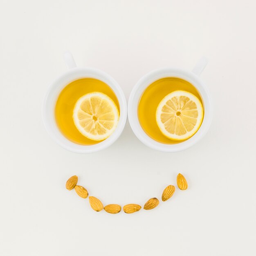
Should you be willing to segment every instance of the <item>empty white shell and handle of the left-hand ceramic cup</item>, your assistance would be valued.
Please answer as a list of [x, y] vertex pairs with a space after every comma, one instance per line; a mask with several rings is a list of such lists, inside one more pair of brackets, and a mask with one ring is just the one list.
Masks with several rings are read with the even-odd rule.
[[[117, 138], [121, 135], [127, 119], [127, 104], [124, 92], [121, 90], [119, 84], [108, 74], [102, 72], [101, 70], [96, 70], [88, 67], [76, 67], [76, 63], [70, 52], [65, 52], [64, 60], [69, 68], [67, 72], [59, 76], [49, 87], [47, 94], [43, 100], [42, 106], [42, 116], [45, 128], [49, 135], [56, 141], [61, 147], [70, 150], [75, 153], [92, 153], [104, 148], [107, 148], [112, 143], [114, 143]], [[63, 88], [76, 79], [81, 78], [94, 78], [99, 79], [110, 86], [110, 88], [115, 92], [120, 106], [120, 117], [117, 128], [115, 131], [98, 144], [84, 146], [76, 144], [68, 140], [58, 129], [55, 118], [54, 118], [54, 108], [58, 95], [63, 90]]]

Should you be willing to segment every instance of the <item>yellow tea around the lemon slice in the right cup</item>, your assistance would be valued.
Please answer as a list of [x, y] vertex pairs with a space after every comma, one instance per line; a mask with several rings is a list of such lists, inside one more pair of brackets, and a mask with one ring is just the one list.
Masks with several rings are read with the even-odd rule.
[[[203, 106], [203, 101], [198, 90], [188, 81], [176, 77], [166, 77], [153, 82], [146, 88], [139, 100], [138, 118], [141, 127], [149, 137], [164, 144], [182, 142], [181, 140], [170, 139], [164, 136], [156, 120], [156, 111], [159, 103], [164, 97], [174, 91], [186, 91], [193, 94]], [[177, 115], [180, 115], [180, 113], [177, 112]]]

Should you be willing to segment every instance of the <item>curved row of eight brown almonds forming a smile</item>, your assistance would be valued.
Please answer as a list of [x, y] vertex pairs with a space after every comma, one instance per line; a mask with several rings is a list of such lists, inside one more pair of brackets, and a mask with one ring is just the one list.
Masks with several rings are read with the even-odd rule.
[[[81, 198], [87, 198], [88, 197], [88, 191], [83, 187], [76, 185], [78, 182], [78, 177], [76, 175], [70, 177], [67, 182], [66, 182], [66, 189], [67, 190], [72, 190], [75, 189], [76, 193], [81, 197]], [[186, 182], [185, 177], [179, 173], [177, 175], [177, 185], [180, 190], [186, 190], [188, 188], [188, 183]], [[169, 185], [167, 186], [163, 193], [162, 193], [162, 201], [165, 202], [175, 192], [175, 186]], [[89, 202], [94, 211], [101, 211], [104, 209], [108, 213], [119, 213], [121, 211], [121, 206], [119, 204], [108, 204], [105, 207], [103, 207], [102, 202], [98, 199], [95, 198], [94, 196], [89, 196]], [[157, 198], [150, 198], [145, 204], [144, 204], [144, 209], [145, 210], [151, 210], [157, 207], [159, 204], [159, 200]], [[139, 204], [126, 204], [123, 207], [123, 210], [125, 213], [135, 213], [136, 211], [139, 211], [141, 209], [141, 206]]]

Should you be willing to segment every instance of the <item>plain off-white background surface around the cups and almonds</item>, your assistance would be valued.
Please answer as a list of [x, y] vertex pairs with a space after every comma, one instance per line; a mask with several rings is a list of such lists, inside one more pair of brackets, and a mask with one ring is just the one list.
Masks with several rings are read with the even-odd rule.
[[[0, 9], [0, 255], [256, 254], [256, 35], [253, 0], [7, 1]], [[110, 148], [70, 153], [47, 135], [41, 102], [66, 70], [108, 72], [126, 98], [147, 72], [202, 73], [214, 102], [206, 137], [181, 153], [147, 148], [129, 124]], [[189, 183], [152, 211], [96, 213], [67, 191], [79, 184], [104, 204], [161, 197], [178, 172]]]

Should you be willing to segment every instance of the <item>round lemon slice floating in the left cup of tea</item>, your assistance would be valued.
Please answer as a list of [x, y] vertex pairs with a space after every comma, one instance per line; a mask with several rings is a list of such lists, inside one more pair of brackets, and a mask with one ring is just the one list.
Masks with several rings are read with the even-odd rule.
[[73, 120], [88, 139], [107, 139], [117, 127], [119, 111], [110, 97], [101, 92], [83, 95], [75, 104]]

